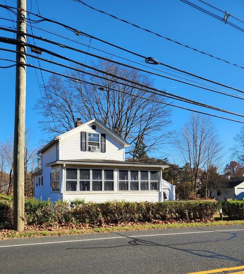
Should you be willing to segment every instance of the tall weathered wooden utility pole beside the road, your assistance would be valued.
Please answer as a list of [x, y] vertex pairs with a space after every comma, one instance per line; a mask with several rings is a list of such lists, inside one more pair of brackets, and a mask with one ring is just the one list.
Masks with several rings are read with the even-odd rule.
[[[14, 124], [14, 229], [24, 230], [24, 132], [26, 96], [26, 0], [17, 0], [16, 83]], [[23, 65], [22, 65], [23, 64]]]

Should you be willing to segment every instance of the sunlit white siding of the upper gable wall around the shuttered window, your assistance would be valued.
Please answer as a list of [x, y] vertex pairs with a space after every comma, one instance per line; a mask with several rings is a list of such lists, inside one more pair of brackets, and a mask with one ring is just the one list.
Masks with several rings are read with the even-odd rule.
[[[96, 130], [92, 129], [90, 124], [73, 135], [64, 137], [59, 144], [59, 160], [78, 160], [78, 159], [107, 159], [124, 161], [124, 146], [112, 138], [107, 132], [104, 132], [97, 126]], [[100, 151], [81, 151], [81, 137], [80, 132], [93, 132], [106, 134], [106, 152]]]

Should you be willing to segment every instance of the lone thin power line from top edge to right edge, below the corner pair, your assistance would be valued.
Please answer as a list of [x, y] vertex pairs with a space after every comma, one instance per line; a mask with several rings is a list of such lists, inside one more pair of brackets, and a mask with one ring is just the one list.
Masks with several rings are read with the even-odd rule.
[[[217, 56], [215, 56], [215, 55], [213, 55], [213, 54], [210, 54], [210, 53], [204, 52], [204, 51], [202, 51], [202, 50], [196, 49], [196, 48], [194, 48], [194, 47], [188, 46], [188, 45], [186, 45], [186, 44], [180, 43], [180, 42], [178, 42], [178, 41], [176, 41], [176, 40], [174, 40], [174, 39], [171, 39], [171, 38], [165, 37], [165, 36], [163, 36], [163, 35], [161, 35], [161, 34], [158, 34], [158, 33], [156, 33], [156, 32], [150, 31], [150, 29], [141, 27], [141, 26], [139, 26], [139, 25], [137, 25], [137, 24], [134, 24], [134, 23], [132, 23], [132, 22], [129, 22], [129, 21], [125, 20], [125, 19], [119, 18], [119, 17], [117, 17], [117, 16], [115, 16], [115, 15], [113, 15], [113, 14], [107, 13], [107, 12], [102, 11], [102, 10], [100, 10], [100, 9], [96, 9], [96, 8], [94, 8], [94, 7], [92, 7], [92, 6], [88, 5], [88, 4], [86, 4], [85, 2], [83, 2], [83, 1], [81, 1], [81, 0], [73, 0], [73, 1], [74, 1], [74, 2], [78, 2], [78, 3], [80, 3], [80, 4], [84, 5], [84, 6], [86, 6], [86, 7], [90, 8], [90, 9], [92, 9], [92, 10], [95, 10], [95, 11], [98, 11], [98, 12], [103, 13], [103, 14], [105, 14], [105, 15], [108, 15], [108, 16], [112, 17], [113, 19], [116, 19], [116, 20], [119, 20], [119, 21], [121, 21], [121, 22], [127, 23], [127, 24], [129, 24], [129, 25], [132, 25], [132, 26], [134, 26], [134, 27], [137, 27], [137, 28], [139, 28], [139, 29], [142, 29], [142, 30], [145, 31], [145, 32], [148, 32], [148, 33], [154, 34], [154, 35], [156, 35], [156, 36], [158, 36], [158, 37], [160, 37], [160, 38], [166, 39], [166, 40], [168, 40], [168, 41], [170, 41], [170, 42], [173, 42], [173, 43], [175, 43], [175, 44], [177, 44], [177, 45], [180, 45], [180, 46], [183, 46], [183, 47], [192, 49], [192, 50], [197, 51], [197, 52], [199, 52], [199, 53], [201, 53], [201, 54], [204, 54], [204, 55], [207, 55], [207, 56], [209, 56], [209, 57], [212, 57], [212, 58], [215, 58], [215, 59], [217, 59], [217, 60], [220, 60], [220, 61], [222, 61], [222, 62], [225, 62], [225, 63], [227, 63], [227, 64], [229, 64], [229, 65], [233, 65], [233, 66], [239, 67], [239, 68], [241, 68], [241, 69], [244, 69], [243, 66], [234, 64], [234, 63], [232, 63], [232, 62], [230, 62], [230, 61], [228, 61], [228, 60], [225, 60], [225, 59], [223, 59], [223, 58], [217, 57]], [[217, 18], [217, 19], [219, 19], [219, 18]], [[220, 17], [220, 19], [221, 19], [221, 17]]]

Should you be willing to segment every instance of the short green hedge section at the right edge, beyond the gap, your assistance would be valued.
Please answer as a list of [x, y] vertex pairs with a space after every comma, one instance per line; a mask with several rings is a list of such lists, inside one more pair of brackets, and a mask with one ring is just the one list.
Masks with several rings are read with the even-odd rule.
[[244, 220], [244, 201], [230, 200], [222, 202], [222, 210], [225, 216], [232, 220]]

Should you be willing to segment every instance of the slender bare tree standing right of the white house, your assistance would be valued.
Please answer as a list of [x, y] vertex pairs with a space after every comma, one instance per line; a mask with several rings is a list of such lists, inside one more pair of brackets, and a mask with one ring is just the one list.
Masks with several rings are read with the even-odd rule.
[[197, 185], [200, 183], [203, 170], [206, 174], [205, 196], [207, 196], [209, 168], [220, 161], [223, 149], [210, 119], [193, 114], [182, 128], [177, 147], [185, 163], [189, 163], [192, 196], [196, 197]]

